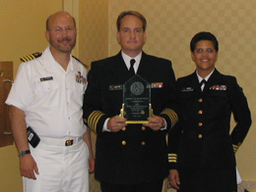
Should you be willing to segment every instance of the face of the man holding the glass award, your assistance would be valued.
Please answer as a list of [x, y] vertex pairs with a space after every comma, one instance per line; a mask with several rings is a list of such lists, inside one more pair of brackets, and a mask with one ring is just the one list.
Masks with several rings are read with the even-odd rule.
[[120, 30], [117, 31], [117, 40], [125, 54], [137, 56], [146, 41], [142, 21], [135, 16], [125, 16], [121, 20]]

